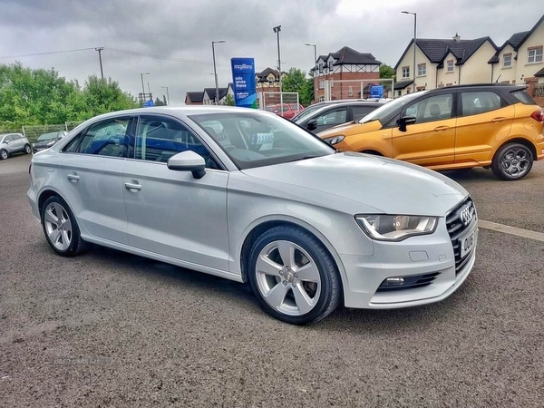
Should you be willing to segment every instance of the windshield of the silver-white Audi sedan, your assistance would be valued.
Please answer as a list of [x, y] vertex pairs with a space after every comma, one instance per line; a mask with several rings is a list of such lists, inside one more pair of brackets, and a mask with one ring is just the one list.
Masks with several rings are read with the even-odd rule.
[[219, 112], [189, 118], [217, 141], [240, 170], [335, 153], [325, 141], [277, 115]]

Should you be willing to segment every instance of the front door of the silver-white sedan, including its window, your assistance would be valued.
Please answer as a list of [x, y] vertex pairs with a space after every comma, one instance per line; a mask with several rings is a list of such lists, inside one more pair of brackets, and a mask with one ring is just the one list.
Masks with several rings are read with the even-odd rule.
[[[170, 170], [168, 159], [195, 151], [206, 174]], [[213, 170], [212, 170], [213, 169]], [[180, 121], [141, 115], [134, 157], [122, 172], [130, 245], [189, 264], [228, 270], [228, 171]]]

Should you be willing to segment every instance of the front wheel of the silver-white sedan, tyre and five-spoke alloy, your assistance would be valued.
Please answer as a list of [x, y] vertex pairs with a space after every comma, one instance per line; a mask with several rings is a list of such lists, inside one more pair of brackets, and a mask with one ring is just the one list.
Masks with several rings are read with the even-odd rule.
[[257, 238], [249, 254], [248, 278], [262, 309], [286, 323], [316, 323], [340, 301], [335, 261], [301, 228], [278, 226]]

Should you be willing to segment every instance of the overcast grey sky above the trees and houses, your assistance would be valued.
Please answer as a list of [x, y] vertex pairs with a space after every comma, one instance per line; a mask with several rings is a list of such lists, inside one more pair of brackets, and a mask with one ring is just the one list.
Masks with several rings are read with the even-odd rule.
[[[185, 92], [214, 87], [211, 42], [219, 86], [231, 82], [230, 58], [253, 57], [257, 71], [308, 71], [317, 54], [347, 45], [393, 66], [413, 38], [490, 36], [498, 46], [529, 31], [544, 15], [542, 0], [0, 0], [0, 63], [54, 68], [68, 80], [100, 76], [95, 47], [103, 47], [105, 77], [123, 91], [141, 92], [141, 73], [153, 97], [182, 104]], [[91, 48], [84, 51], [73, 51]], [[47, 53], [25, 56], [28, 54]]]

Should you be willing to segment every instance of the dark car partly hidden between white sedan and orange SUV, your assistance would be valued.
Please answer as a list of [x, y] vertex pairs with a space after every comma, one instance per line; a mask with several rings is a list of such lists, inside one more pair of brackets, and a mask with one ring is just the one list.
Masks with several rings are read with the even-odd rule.
[[350, 121], [359, 121], [385, 102], [388, 102], [388, 100], [354, 100], [351, 102], [325, 103], [313, 112], [301, 115], [298, 119], [292, 119], [292, 121], [308, 131], [317, 133]]

